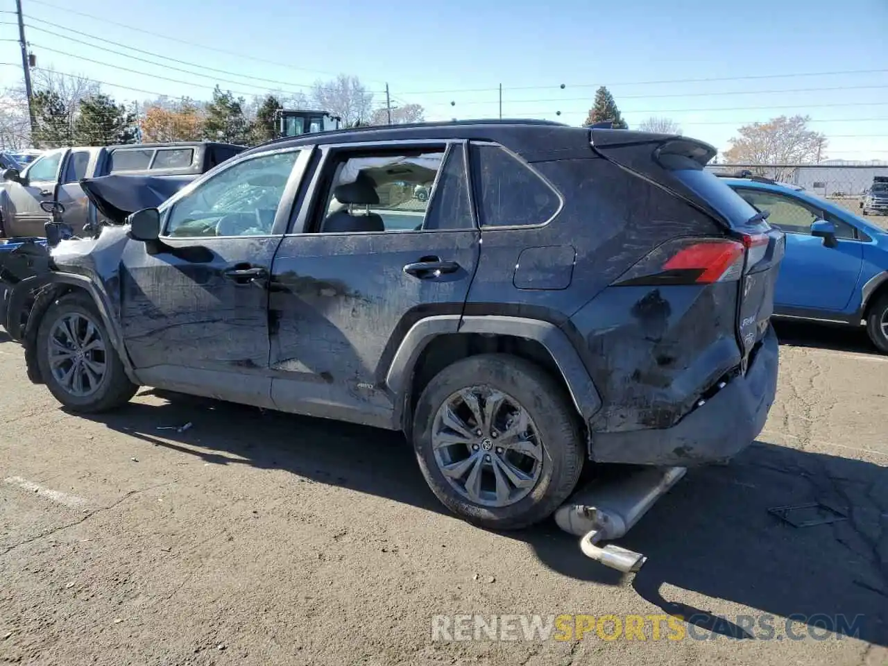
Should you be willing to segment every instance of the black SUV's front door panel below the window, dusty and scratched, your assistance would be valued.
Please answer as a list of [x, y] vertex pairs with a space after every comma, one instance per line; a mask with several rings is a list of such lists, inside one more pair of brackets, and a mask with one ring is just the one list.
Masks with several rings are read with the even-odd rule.
[[227, 274], [270, 271], [280, 236], [166, 239], [123, 253], [123, 336], [147, 385], [269, 405], [268, 292]]

